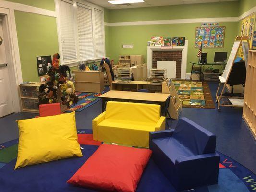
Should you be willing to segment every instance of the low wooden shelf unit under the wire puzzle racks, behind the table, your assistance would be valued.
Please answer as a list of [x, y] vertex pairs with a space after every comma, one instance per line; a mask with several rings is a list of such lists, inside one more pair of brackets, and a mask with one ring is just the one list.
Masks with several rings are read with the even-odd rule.
[[112, 81], [112, 90], [138, 91], [139, 89], [148, 89], [149, 92], [162, 92], [162, 84], [151, 84], [150, 81]]

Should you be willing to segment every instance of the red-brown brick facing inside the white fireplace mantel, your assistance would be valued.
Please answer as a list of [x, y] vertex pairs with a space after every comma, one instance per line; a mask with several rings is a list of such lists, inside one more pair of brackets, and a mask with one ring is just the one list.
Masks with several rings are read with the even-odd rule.
[[152, 68], [157, 68], [157, 61], [176, 61], [176, 78], [181, 78], [182, 70], [182, 51], [181, 50], [164, 50], [153, 51]]

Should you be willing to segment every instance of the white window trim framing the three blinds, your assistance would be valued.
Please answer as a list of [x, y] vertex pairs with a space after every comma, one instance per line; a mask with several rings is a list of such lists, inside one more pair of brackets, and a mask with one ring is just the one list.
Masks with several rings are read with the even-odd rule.
[[[92, 10], [94, 10], [95, 8], [98, 10], [101, 10], [103, 12], [102, 14], [102, 27], [103, 27], [103, 47], [104, 47], [104, 57], [106, 57], [106, 48], [105, 48], [105, 24], [104, 24], [104, 8], [89, 3], [85, 0], [63, 0], [63, 1], [67, 1], [67, 2], [73, 2], [73, 8], [74, 8], [74, 17], [76, 17], [77, 14], [77, 3], [81, 3], [85, 6], [88, 6], [90, 8], [92, 8]], [[80, 55], [78, 54], [79, 51], [79, 46], [78, 46], [78, 30], [77, 30], [77, 21], [76, 18], [74, 18], [74, 26], [75, 26], [75, 42], [76, 42], [76, 54], [77, 54], [77, 60], [76, 61], [71, 61], [71, 62], [64, 62], [63, 61], [63, 51], [62, 51], [62, 41], [61, 41], [61, 22], [60, 22], [60, 6], [59, 6], [59, 2], [60, 0], [55, 0], [55, 9], [56, 9], [56, 23], [57, 23], [57, 33], [58, 33], [58, 41], [59, 41], [59, 51], [60, 51], [60, 63], [61, 65], [68, 65], [70, 67], [76, 66], [77, 63], [81, 62], [81, 61], [95, 61], [98, 62], [100, 61], [102, 58], [94, 58], [94, 59], [90, 59], [90, 60], [80, 60]], [[92, 12], [92, 18], [94, 18], [94, 11]], [[92, 24], [93, 24], [93, 28], [95, 28], [95, 21], [94, 19], [92, 20]], [[93, 37], [95, 37], [95, 30], [93, 30]], [[95, 41], [94, 41], [94, 53], [96, 53], [96, 49], [95, 49]]]

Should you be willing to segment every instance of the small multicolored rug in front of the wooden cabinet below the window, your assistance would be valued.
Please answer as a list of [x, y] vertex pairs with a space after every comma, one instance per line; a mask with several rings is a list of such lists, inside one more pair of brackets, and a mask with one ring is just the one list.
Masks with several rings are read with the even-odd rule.
[[82, 92], [76, 92], [75, 93], [78, 96], [79, 101], [76, 105], [71, 106], [71, 108], [68, 108], [66, 110], [67, 113], [76, 111], [80, 112], [84, 110], [85, 108], [90, 107], [91, 105], [97, 103], [100, 98], [98, 96], [101, 95], [101, 93], [82, 93]]

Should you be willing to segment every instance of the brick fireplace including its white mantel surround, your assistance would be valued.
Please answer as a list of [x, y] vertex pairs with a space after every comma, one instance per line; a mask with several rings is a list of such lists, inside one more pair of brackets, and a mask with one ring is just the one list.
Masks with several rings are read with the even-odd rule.
[[[148, 76], [151, 68], [158, 67], [157, 66], [158, 61], [167, 61], [166, 63], [168, 64], [169, 63], [175, 64], [176, 62], [175, 78], [186, 79], [187, 53], [188, 53], [188, 40], [185, 40], [184, 46], [173, 46], [172, 49], [161, 49], [161, 46], [148, 46], [147, 47]], [[173, 75], [175, 75], [175, 72]]]

